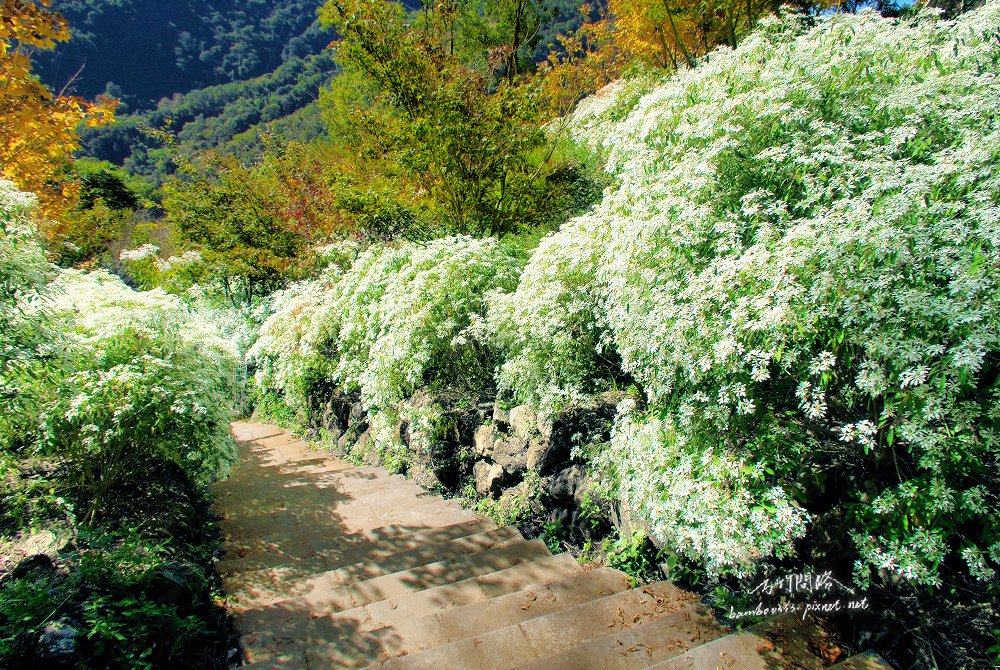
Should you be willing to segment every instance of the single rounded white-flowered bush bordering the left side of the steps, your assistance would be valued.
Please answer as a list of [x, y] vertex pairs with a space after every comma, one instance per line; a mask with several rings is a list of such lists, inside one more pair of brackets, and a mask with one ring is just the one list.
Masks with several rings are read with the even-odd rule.
[[233, 343], [177, 297], [133, 291], [104, 271], [63, 271], [50, 292], [66, 350], [37, 448], [66, 463], [90, 511], [151, 458], [196, 481], [223, 474], [241, 381]]

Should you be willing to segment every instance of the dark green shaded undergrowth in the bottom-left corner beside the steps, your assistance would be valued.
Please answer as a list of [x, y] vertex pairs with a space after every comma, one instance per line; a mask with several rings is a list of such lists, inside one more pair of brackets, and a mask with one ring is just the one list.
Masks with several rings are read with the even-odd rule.
[[53, 625], [77, 630], [80, 667], [162, 668], [208, 656], [216, 642], [211, 593], [196, 567], [209, 564], [206, 549], [135, 528], [80, 528], [58, 554], [62, 571], [38, 568], [0, 582], [0, 660], [31, 658], [38, 635]]

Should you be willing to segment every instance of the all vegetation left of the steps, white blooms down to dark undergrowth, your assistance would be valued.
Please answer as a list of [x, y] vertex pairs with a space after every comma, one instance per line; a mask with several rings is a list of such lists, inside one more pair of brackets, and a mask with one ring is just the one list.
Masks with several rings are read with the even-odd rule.
[[32, 206], [0, 182], [0, 546], [52, 563], [0, 574], [0, 665], [52, 626], [80, 667], [216, 663], [201, 487], [234, 456], [235, 347], [163, 291], [56, 274]]

